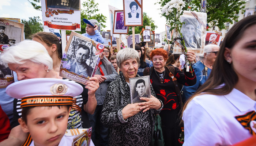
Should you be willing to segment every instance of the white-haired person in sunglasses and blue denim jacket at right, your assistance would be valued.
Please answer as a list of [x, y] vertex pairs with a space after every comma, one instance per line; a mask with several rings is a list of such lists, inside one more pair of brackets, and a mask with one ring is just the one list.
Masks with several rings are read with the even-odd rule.
[[219, 46], [217, 45], [206, 45], [204, 47], [204, 56], [200, 61], [197, 61], [193, 65], [193, 69], [196, 74], [196, 84], [193, 86], [184, 86], [183, 87], [183, 99], [187, 100], [196, 90], [204, 84], [204, 82], [210, 76], [212, 66], [215, 62], [215, 59], [218, 55]]

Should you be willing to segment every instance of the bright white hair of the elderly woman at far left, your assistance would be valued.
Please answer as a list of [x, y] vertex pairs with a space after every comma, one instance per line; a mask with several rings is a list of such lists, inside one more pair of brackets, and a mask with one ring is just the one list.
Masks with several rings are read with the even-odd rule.
[[24, 64], [27, 60], [41, 63], [51, 70], [53, 61], [45, 47], [36, 41], [22, 41], [15, 46], [8, 47], [1, 55], [3, 62], [7, 64]]

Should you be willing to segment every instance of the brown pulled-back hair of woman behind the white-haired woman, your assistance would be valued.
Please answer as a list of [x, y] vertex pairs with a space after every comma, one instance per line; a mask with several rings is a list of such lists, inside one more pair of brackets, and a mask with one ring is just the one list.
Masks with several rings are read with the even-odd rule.
[[62, 46], [60, 43], [60, 39], [55, 34], [52, 34], [50, 32], [37, 32], [32, 35], [32, 38], [38, 38], [46, 43], [48, 46], [55, 44], [57, 46], [58, 58], [62, 59]]

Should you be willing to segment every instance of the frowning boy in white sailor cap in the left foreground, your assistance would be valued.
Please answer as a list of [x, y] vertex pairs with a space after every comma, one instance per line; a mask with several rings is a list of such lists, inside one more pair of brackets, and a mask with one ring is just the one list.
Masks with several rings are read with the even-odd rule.
[[64, 134], [72, 99], [82, 92], [81, 85], [56, 78], [22, 80], [6, 88], [9, 96], [22, 99], [19, 123], [33, 139], [30, 146], [72, 146], [76, 136]]

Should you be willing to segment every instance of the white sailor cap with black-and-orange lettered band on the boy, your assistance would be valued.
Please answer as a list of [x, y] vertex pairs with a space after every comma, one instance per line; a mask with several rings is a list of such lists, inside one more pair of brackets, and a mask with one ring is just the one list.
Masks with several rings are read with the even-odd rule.
[[14, 82], [6, 93], [22, 99], [20, 107], [72, 105], [72, 99], [83, 92], [76, 82], [57, 78], [32, 78]]

